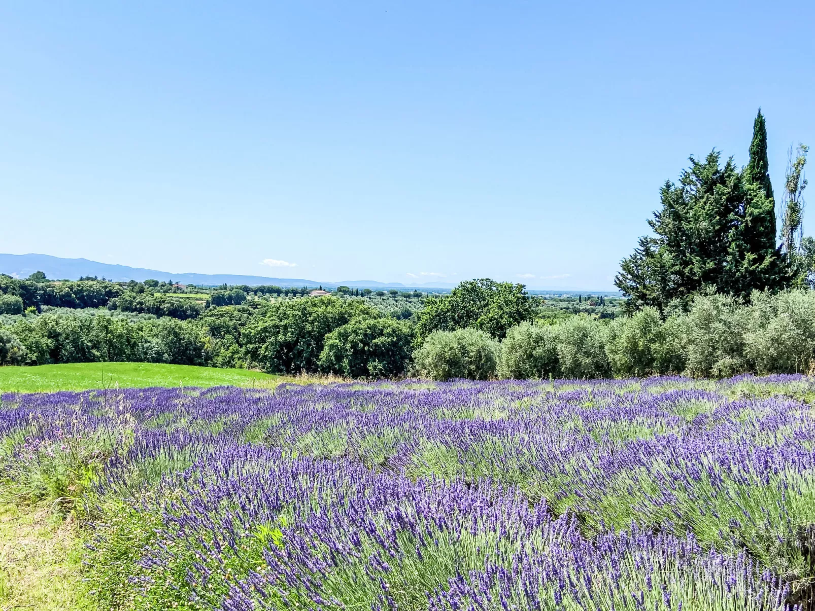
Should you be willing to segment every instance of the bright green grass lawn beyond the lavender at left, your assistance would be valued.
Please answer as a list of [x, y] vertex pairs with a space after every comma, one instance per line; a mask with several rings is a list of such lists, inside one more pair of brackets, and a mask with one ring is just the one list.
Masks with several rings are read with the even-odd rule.
[[280, 376], [245, 369], [217, 369], [165, 363], [64, 363], [0, 367], [0, 392], [145, 388], [148, 386], [258, 386], [273, 388]]

